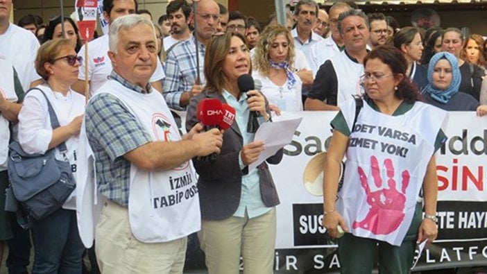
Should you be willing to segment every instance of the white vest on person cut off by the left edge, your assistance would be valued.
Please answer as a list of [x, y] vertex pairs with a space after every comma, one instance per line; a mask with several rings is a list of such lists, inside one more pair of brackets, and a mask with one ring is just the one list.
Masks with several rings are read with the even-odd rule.
[[[3, 58], [0, 58], [0, 75], [1, 96], [10, 102], [17, 102], [12, 63]], [[8, 141], [10, 139], [10, 128], [8, 125], [8, 120], [0, 113], [0, 171], [7, 169]]]

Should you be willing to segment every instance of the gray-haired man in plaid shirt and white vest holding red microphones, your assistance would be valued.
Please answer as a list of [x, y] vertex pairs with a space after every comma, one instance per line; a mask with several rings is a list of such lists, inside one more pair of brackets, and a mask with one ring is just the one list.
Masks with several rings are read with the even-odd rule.
[[[202, 132], [198, 123], [180, 136], [164, 98], [149, 83], [158, 64], [150, 21], [140, 15], [116, 19], [108, 55], [112, 74], [89, 101], [80, 135], [96, 159], [96, 176], [89, 180], [107, 198], [94, 223], [100, 271], [182, 273], [187, 235], [199, 230], [189, 160], [219, 153], [221, 132]], [[80, 150], [80, 159], [89, 159], [87, 151]], [[178, 176], [189, 179], [177, 184]], [[184, 198], [178, 196], [183, 191]]]

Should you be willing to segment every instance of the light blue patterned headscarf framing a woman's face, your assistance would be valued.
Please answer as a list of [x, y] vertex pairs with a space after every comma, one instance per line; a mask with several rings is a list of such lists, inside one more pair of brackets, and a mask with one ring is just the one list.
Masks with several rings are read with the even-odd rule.
[[[450, 86], [447, 87], [447, 89], [438, 89], [433, 85], [434, 67], [436, 66], [436, 63], [441, 59], [447, 60], [448, 62], [450, 62], [450, 66], [452, 66], [452, 83], [450, 83]], [[432, 99], [435, 99], [438, 102], [448, 103], [452, 96], [459, 92], [461, 82], [459, 61], [452, 53], [448, 53], [446, 51], [438, 52], [433, 55], [431, 60], [429, 60], [427, 77], [429, 84], [425, 87], [424, 92], [429, 94]]]

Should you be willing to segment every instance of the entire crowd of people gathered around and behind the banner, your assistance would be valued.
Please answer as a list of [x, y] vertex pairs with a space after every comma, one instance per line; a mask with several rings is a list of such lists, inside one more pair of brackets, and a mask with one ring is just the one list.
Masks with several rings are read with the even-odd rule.
[[[153, 24], [137, 0], [104, 0], [110, 32], [88, 42], [71, 17], [12, 24], [12, 0], [0, 1], [0, 264], [7, 243], [9, 273], [27, 273], [32, 238], [32, 273], [82, 273], [85, 254], [92, 273], [182, 273], [187, 237], [198, 232], [209, 273], [239, 273], [241, 257], [243, 273], [272, 273], [280, 198], [268, 164], [283, 151], [249, 169], [265, 144], [248, 117], [336, 110], [323, 226], [340, 237], [341, 272], [370, 273], [378, 252], [381, 273], [409, 273], [416, 242], [438, 234], [434, 153], [447, 111], [487, 114], [484, 37], [439, 28], [436, 17], [400, 28], [353, 2], [327, 11], [300, 0], [285, 26], [275, 14], [263, 26], [214, 0], [195, 2], [196, 13], [170, 1]], [[244, 74], [262, 86], [242, 92]], [[205, 100], [234, 109], [228, 130], [203, 127]], [[400, 143], [409, 158], [352, 146], [368, 136], [356, 126], [413, 129]], [[12, 139], [29, 154], [65, 144], [55, 157], [77, 178], [64, 205], [29, 230], [4, 210]], [[370, 189], [381, 176], [388, 187]], [[99, 219], [78, 219], [92, 216], [83, 212], [94, 199], [103, 200]]]

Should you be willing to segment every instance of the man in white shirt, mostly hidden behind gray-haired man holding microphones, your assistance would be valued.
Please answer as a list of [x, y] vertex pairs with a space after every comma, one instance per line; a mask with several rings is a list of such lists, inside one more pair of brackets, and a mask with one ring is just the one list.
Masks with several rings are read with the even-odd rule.
[[[115, 19], [135, 13], [137, 0], [103, 0], [103, 16], [112, 24]], [[71, 86], [81, 94], [85, 94], [85, 79], [89, 80], [89, 95], [93, 96], [112, 72], [112, 62], [108, 58], [108, 35], [103, 35], [88, 43], [88, 56], [85, 56], [85, 46], [82, 46], [79, 55], [88, 61], [88, 75], [85, 75], [85, 62], [81, 63], [78, 81]], [[164, 71], [162, 66], [157, 66], [151, 77], [151, 85], [162, 91]]]

